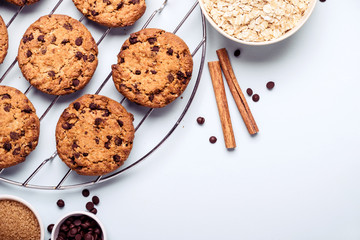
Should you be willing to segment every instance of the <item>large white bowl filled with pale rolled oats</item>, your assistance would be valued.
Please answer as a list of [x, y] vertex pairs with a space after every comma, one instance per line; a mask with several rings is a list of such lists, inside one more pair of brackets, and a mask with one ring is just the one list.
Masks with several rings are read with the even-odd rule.
[[282, 41], [299, 30], [316, 0], [199, 0], [210, 24], [225, 37], [247, 45]]

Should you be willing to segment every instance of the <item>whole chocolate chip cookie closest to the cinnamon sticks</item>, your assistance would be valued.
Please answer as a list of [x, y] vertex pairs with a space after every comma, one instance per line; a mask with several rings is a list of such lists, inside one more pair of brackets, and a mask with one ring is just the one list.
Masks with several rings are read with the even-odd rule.
[[192, 56], [182, 39], [161, 29], [144, 29], [125, 41], [112, 76], [117, 90], [130, 101], [160, 108], [184, 92], [192, 69]]

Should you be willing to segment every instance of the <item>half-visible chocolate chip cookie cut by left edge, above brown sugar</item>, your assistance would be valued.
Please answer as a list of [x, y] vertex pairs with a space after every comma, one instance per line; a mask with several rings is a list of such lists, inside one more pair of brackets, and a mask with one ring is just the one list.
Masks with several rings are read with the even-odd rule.
[[0, 169], [25, 161], [38, 144], [40, 121], [19, 90], [0, 86]]

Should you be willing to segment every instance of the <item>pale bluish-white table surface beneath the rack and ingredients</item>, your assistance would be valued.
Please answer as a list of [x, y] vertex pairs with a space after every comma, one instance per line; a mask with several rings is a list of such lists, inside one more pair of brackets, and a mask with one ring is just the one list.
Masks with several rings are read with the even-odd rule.
[[[26, 7], [10, 26], [10, 51], [0, 66], [1, 75], [14, 60], [26, 28], [56, 2], [42, 0]], [[94, 92], [125, 38], [140, 29], [161, 2], [148, 0], [146, 15], [134, 27], [111, 32], [99, 47], [101, 63], [91, 84], [56, 105], [42, 122], [39, 146], [28, 161], [2, 176], [24, 180], [54, 152], [54, 126], [62, 110], [75, 97]], [[193, 3], [169, 0], [150, 27], [172, 31]], [[233, 43], [208, 25], [206, 62], [217, 59], [216, 49], [229, 50], [242, 89], [251, 87], [261, 97], [258, 103], [248, 98], [260, 133], [247, 133], [226, 86], [237, 148], [225, 149], [206, 66], [193, 104], [160, 149], [115, 180], [89, 188], [91, 195], [100, 197], [97, 216], [109, 239], [359, 239], [359, 9], [358, 0], [318, 2], [299, 32], [264, 47]], [[0, 3], [6, 22], [16, 10]], [[64, 0], [56, 13], [81, 17], [71, 0]], [[84, 23], [95, 39], [106, 29]], [[201, 38], [198, 7], [178, 34], [194, 49]], [[232, 53], [238, 48], [241, 56], [235, 58]], [[198, 64], [199, 58], [195, 60]], [[276, 83], [272, 91], [265, 87], [270, 80]], [[22, 91], [28, 86], [17, 65], [2, 84]], [[121, 99], [112, 82], [102, 93]], [[131, 159], [164, 135], [190, 93], [191, 87], [183, 99], [151, 115], [136, 133]], [[36, 90], [29, 98], [38, 114], [52, 100]], [[132, 105], [129, 111], [141, 112]], [[203, 126], [196, 123], [198, 116], [205, 117]], [[212, 135], [218, 138], [216, 144], [208, 141]], [[64, 172], [63, 163], [55, 159], [34, 183], [56, 184]], [[85, 209], [90, 199], [82, 197], [81, 190], [34, 190], [0, 183], [0, 194], [33, 204], [45, 227], [67, 212]], [[66, 203], [64, 209], [56, 206], [59, 198]]]

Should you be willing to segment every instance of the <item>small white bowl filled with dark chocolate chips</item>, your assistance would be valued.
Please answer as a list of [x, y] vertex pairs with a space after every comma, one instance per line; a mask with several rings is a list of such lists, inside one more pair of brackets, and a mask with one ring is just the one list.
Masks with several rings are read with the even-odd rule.
[[71, 212], [60, 218], [51, 232], [52, 240], [107, 240], [104, 226], [89, 212]]

